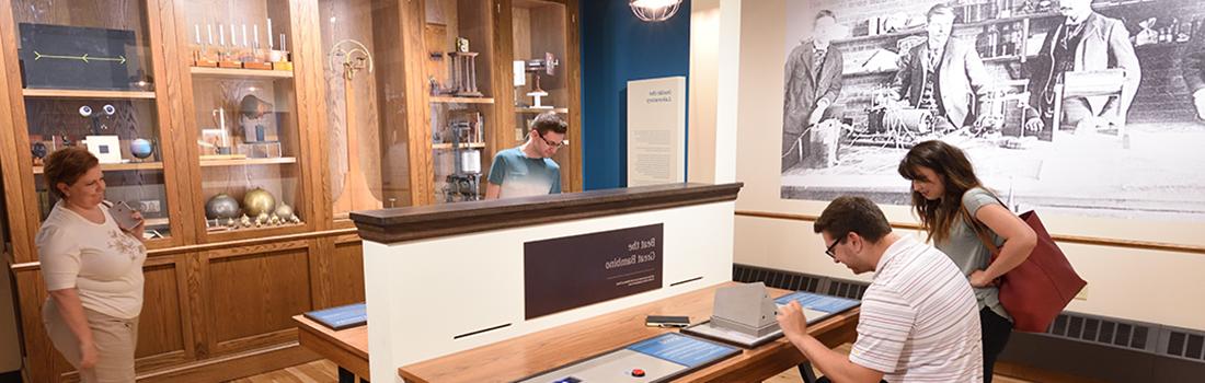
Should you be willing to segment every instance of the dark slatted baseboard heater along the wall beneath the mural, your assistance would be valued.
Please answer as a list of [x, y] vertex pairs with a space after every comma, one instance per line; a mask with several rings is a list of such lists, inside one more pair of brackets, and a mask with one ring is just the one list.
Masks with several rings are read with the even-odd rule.
[[[741, 264], [733, 265], [733, 281], [854, 299], [866, 285]], [[1044, 334], [1012, 332], [995, 373], [1033, 382], [1199, 382], [1205, 332], [1063, 312]]]

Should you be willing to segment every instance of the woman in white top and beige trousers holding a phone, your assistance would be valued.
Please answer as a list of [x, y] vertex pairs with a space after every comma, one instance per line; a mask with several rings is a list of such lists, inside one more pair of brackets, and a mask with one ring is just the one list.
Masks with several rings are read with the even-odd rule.
[[46, 158], [46, 183], [59, 198], [37, 231], [49, 297], [42, 323], [83, 382], [134, 382], [142, 311], [142, 216], [122, 230], [110, 216], [96, 157], [64, 148]]

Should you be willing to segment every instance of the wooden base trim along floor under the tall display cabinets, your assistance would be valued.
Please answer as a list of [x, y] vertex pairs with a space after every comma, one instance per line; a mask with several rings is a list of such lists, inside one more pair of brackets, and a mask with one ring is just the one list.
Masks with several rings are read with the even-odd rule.
[[322, 359], [322, 357], [294, 341], [140, 373], [137, 381], [140, 383], [222, 382], [281, 370], [318, 359]]

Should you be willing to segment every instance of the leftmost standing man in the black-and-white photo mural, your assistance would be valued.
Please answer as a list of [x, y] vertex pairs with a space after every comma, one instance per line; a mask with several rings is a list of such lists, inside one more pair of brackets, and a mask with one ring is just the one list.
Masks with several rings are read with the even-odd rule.
[[841, 51], [829, 45], [836, 35], [836, 16], [816, 13], [812, 39], [803, 41], [787, 57], [786, 96], [782, 122], [782, 170], [809, 155], [809, 128], [831, 117], [829, 106], [841, 95]]

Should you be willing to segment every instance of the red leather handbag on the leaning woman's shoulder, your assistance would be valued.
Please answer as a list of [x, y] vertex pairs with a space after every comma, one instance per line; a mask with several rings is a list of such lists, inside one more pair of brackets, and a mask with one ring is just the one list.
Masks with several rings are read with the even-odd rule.
[[[1046, 328], [1058, 317], [1076, 294], [1088, 282], [1071, 267], [1063, 251], [1054, 244], [1038, 213], [1029, 211], [1021, 219], [1034, 229], [1038, 244], [1024, 263], [1012, 269], [999, 281], [1000, 304], [1012, 316], [1012, 329], [1027, 332], [1046, 332]], [[986, 229], [986, 228], [984, 228]], [[992, 251], [992, 261], [1000, 249], [981, 230], [975, 230], [980, 241]]]

